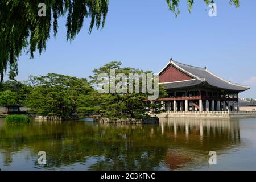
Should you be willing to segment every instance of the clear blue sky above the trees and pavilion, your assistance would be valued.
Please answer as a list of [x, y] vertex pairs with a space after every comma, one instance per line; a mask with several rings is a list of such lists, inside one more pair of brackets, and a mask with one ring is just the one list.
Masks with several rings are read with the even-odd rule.
[[33, 60], [20, 56], [17, 79], [49, 72], [88, 77], [109, 61], [158, 73], [172, 57], [249, 85], [251, 90], [241, 96], [256, 98], [256, 1], [241, 1], [238, 9], [229, 0], [216, 4], [217, 17], [210, 18], [203, 0], [195, 2], [191, 14], [182, 1], [175, 18], [165, 0], [110, 0], [105, 27], [89, 35], [86, 19], [71, 43], [65, 39], [65, 19], [60, 19], [59, 34], [48, 41], [46, 52]]

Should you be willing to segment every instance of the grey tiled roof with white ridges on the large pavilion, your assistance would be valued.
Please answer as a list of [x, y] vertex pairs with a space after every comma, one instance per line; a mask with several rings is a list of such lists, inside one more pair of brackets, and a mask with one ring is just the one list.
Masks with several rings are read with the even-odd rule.
[[165, 85], [164, 87], [167, 89], [196, 86], [199, 84], [208, 84], [216, 88], [225, 90], [236, 90], [238, 92], [243, 92], [250, 89], [248, 86], [233, 84], [232, 82], [226, 81], [223, 78], [218, 77], [214, 73], [208, 71], [207, 68], [193, 67], [191, 65], [182, 64], [173, 60], [171, 60], [158, 75], [160, 75], [164, 71], [164, 69], [166, 69], [170, 64], [179, 69], [180, 71], [187, 73], [189, 76], [193, 77], [193, 79], [163, 83]]

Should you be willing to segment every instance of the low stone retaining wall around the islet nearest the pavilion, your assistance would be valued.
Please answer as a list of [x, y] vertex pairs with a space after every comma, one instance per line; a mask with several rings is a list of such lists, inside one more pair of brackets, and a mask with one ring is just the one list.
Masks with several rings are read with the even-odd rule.
[[126, 124], [151, 124], [151, 123], [159, 123], [159, 118], [144, 118], [144, 119], [135, 119], [135, 118], [123, 118], [123, 119], [94, 118], [93, 122], [126, 123]]

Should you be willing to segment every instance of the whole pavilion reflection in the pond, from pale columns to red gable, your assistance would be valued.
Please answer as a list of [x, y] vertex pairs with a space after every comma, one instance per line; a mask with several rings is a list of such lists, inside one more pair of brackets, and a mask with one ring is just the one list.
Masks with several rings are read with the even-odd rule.
[[162, 135], [172, 138], [164, 161], [170, 169], [207, 166], [218, 155], [241, 146], [238, 119], [161, 118]]

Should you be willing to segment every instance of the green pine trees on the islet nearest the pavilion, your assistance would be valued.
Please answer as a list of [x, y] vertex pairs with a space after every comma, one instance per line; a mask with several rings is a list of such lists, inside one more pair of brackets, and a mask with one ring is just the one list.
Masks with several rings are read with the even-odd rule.
[[[118, 73], [123, 73], [127, 76], [128, 80], [129, 73], [137, 73], [137, 74], [152, 74], [151, 71], [142, 71], [140, 69], [135, 68], [122, 68], [121, 62], [112, 61], [108, 64], [103, 65], [98, 69], [94, 69], [93, 76], [90, 76], [91, 82], [93, 84], [98, 84], [98, 75], [102, 73], [110, 74], [110, 69], [115, 69], [115, 75]], [[109, 75], [110, 76], [110, 75]], [[115, 82], [117, 84], [118, 81]], [[130, 82], [129, 82], [130, 84]], [[128, 84], [128, 85], [129, 85]], [[133, 88], [134, 88], [133, 82]], [[140, 80], [140, 88], [142, 86], [142, 82]], [[129, 86], [127, 86], [129, 87]], [[109, 118], [147, 118], [149, 117], [148, 113], [150, 111], [150, 107], [160, 108], [162, 105], [151, 105], [150, 102], [142, 102], [143, 100], [147, 100], [148, 94], [98, 94], [98, 96], [94, 96], [94, 102], [98, 105], [97, 111], [102, 115], [102, 117]], [[166, 96], [166, 90], [164, 90], [161, 86], [159, 86], [159, 94], [160, 97]]]

